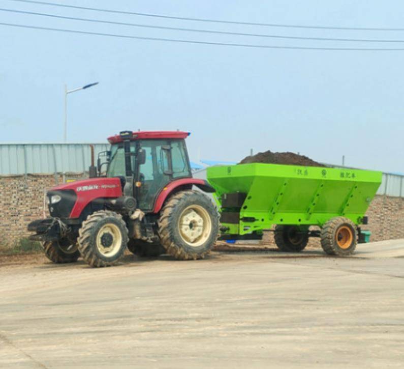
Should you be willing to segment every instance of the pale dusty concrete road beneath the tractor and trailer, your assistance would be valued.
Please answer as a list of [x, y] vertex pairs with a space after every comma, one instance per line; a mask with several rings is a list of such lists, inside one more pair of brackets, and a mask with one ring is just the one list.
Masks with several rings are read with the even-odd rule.
[[279, 255], [3, 265], [0, 367], [404, 366], [403, 240]]

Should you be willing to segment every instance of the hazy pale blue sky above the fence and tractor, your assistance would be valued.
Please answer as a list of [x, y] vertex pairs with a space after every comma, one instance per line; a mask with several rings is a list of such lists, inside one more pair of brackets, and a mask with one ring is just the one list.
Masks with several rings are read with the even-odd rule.
[[[401, 27], [399, 1], [48, 0], [180, 17], [339, 27]], [[404, 31], [293, 29], [100, 13], [0, 0], [0, 8], [117, 22], [284, 36], [404, 40]], [[212, 35], [0, 10], [0, 22], [141, 37], [273, 46], [403, 48]], [[191, 160], [253, 149], [404, 173], [404, 51], [265, 49], [135, 40], [0, 25], [1, 143], [105, 142], [121, 130], [184, 130]]]

